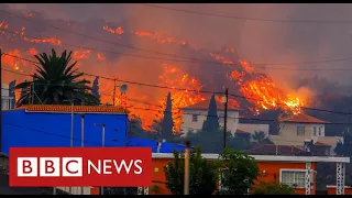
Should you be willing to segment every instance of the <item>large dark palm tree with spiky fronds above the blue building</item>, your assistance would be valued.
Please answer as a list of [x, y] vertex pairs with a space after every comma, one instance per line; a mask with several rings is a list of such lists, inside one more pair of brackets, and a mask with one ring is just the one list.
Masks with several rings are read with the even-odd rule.
[[[34, 56], [40, 65], [32, 75], [32, 81], [24, 81], [15, 89], [31, 89], [19, 99], [16, 106], [33, 103], [43, 105], [99, 105], [99, 100], [90, 92], [90, 81], [79, 79], [84, 74], [74, 69], [77, 62], [70, 64], [72, 52], [66, 51], [61, 56], [52, 50], [52, 55], [45, 53]], [[33, 91], [34, 90], [34, 91]]]

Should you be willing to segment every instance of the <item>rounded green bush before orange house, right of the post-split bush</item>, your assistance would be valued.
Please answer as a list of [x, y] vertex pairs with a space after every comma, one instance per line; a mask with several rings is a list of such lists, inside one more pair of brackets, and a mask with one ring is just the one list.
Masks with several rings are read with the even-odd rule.
[[245, 195], [258, 176], [258, 167], [254, 158], [239, 151], [227, 147], [219, 156], [222, 161], [220, 168], [220, 195]]

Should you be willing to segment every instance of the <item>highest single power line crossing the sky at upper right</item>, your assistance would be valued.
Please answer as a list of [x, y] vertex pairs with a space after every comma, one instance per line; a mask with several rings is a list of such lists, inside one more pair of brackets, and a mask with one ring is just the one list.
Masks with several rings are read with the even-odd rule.
[[258, 21], [258, 22], [276, 22], [276, 23], [352, 23], [352, 20], [279, 20], [279, 19], [260, 19], [260, 18], [246, 18], [246, 16], [238, 16], [238, 15], [226, 15], [226, 14], [216, 14], [216, 13], [206, 13], [206, 12], [197, 12], [197, 11], [190, 11], [190, 10], [183, 10], [183, 9], [175, 9], [169, 7], [161, 7], [155, 4], [145, 4], [140, 3], [145, 7], [154, 8], [154, 9], [163, 9], [168, 11], [175, 11], [175, 12], [184, 12], [184, 13], [190, 13], [190, 14], [198, 14], [198, 15], [207, 15], [207, 16], [216, 16], [216, 18], [227, 18], [227, 19], [234, 19], [234, 20], [244, 20], [244, 21]]

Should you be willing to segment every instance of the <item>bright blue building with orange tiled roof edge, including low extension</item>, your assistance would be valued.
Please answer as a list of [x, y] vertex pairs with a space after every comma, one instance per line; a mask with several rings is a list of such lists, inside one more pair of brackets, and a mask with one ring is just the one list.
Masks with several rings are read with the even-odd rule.
[[[24, 106], [2, 113], [2, 147], [9, 154], [12, 146], [70, 146], [72, 112], [74, 112], [74, 146], [81, 146], [84, 123], [84, 146], [102, 146], [102, 127], [106, 124], [105, 146], [152, 147], [156, 152], [156, 141], [138, 138], [127, 139], [128, 112], [118, 107], [89, 106]], [[163, 143], [161, 153], [170, 153], [183, 145]]]

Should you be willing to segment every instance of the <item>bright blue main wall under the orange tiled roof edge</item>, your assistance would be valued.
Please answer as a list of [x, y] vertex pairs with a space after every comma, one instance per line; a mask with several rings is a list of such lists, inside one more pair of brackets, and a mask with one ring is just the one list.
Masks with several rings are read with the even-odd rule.
[[[2, 152], [10, 146], [69, 146], [70, 113], [25, 112], [10, 110], [2, 113]], [[85, 113], [85, 147], [101, 146], [106, 123], [106, 146], [124, 146], [127, 114]], [[81, 118], [74, 119], [74, 146], [80, 146]]]

